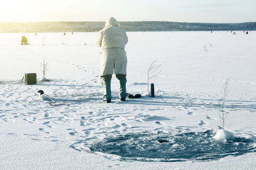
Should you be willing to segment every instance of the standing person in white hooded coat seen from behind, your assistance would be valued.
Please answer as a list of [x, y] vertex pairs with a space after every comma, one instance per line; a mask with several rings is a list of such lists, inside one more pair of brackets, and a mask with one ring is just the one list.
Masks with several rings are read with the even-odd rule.
[[96, 44], [102, 48], [100, 76], [103, 83], [103, 101], [106, 103], [111, 102], [111, 78], [114, 70], [119, 80], [119, 99], [125, 101], [126, 98], [127, 57], [124, 48], [128, 38], [125, 30], [118, 25], [115, 18], [109, 18], [96, 40]]

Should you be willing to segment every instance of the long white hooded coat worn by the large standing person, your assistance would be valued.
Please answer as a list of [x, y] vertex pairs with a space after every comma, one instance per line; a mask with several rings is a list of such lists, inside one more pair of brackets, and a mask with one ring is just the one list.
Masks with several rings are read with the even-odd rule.
[[100, 60], [100, 75], [126, 75], [127, 57], [124, 50], [128, 38], [125, 30], [118, 27], [113, 17], [106, 21], [105, 28], [100, 30], [96, 44], [102, 48]]

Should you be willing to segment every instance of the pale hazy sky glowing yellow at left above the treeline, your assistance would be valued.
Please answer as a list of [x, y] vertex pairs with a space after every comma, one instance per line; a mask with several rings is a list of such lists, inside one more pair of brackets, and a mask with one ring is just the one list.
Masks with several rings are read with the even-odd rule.
[[256, 22], [256, 0], [1, 0], [0, 22]]

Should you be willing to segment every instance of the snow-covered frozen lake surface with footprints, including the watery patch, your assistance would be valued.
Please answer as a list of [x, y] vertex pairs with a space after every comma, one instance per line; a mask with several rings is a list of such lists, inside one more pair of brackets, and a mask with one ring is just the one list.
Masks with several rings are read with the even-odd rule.
[[[30, 45], [20, 45], [26, 36]], [[256, 32], [127, 32], [127, 92], [102, 101], [98, 32], [0, 33], [0, 169], [254, 169]], [[45, 78], [21, 83], [24, 73]], [[157, 60], [155, 98], [147, 69]], [[231, 141], [221, 132], [219, 100]], [[39, 98], [38, 90], [56, 104]], [[219, 139], [219, 138], [218, 138]]]

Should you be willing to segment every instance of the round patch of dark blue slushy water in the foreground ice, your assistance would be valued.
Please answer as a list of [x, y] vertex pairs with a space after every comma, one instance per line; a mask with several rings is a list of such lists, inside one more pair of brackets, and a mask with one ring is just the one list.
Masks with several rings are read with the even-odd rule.
[[123, 160], [159, 162], [216, 160], [256, 152], [255, 143], [249, 139], [235, 138], [225, 142], [214, 140], [213, 135], [213, 131], [176, 135], [131, 133], [95, 142], [90, 149], [118, 155]]

